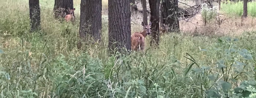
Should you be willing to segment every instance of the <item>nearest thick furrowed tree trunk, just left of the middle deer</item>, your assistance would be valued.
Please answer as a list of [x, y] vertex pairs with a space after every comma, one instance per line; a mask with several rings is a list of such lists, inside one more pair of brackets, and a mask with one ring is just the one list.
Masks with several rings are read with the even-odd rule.
[[111, 53], [131, 50], [131, 12], [129, 0], [108, 1], [108, 48]]

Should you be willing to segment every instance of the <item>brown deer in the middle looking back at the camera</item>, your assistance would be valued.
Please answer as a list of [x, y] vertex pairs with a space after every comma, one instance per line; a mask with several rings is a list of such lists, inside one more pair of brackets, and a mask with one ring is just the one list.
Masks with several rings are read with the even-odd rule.
[[143, 31], [135, 32], [131, 35], [131, 50], [138, 51], [142, 50], [144, 52], [145, 48], [145, 37], [151, 33], [151, 22], [149, 25], [145, 25], [144, 22], [141, 22], [143, 26]]

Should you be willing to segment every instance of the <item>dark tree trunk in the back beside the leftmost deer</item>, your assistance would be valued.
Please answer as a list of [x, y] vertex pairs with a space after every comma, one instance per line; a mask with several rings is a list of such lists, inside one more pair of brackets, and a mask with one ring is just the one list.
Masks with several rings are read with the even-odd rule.
[[[61, 8], [61, 9], [60, 9]], [[74, 9], [73, 0], [55, 0], [53, 12], [55, 14], [55, 18], [64, 18], [66, 15], [70, 14], [67, 10], [68, 8]], [[73, 14], [75, 17], [75, 14]]]

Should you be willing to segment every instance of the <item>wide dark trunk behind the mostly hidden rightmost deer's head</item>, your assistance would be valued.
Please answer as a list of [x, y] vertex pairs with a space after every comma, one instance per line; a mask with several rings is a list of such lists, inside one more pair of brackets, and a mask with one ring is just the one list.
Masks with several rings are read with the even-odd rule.
[[179, 32], [178, 0], [163, 0], [163, 23], [169, 24], [171, 32]]

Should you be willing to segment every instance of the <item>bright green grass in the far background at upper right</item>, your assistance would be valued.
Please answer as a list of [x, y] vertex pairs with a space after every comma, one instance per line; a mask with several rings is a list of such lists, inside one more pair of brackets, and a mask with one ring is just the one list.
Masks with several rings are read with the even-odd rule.
[[[256, 2], [248, 2], [248, 15], [255, 17], [256, 16]], [[242, 16], [243, 15], [243, 1], [238, 1], [236, 3], [230, 3], [230, 1], [228, 1], [228, 3], [222, 3], [221, 4], [221, 11], [226, 12], [227, 14], [231, 14], [231, 15], [237, 15], [237, 16]]]

